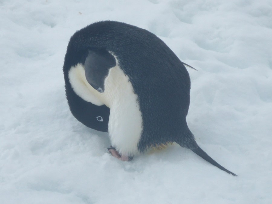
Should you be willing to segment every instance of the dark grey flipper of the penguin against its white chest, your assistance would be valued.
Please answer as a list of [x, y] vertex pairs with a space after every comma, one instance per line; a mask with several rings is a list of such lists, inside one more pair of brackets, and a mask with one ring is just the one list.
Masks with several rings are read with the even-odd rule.
[[89, 49], [84, 63], [88, 83], [97, 91], [104, 92], [104, 81], [109, 69], [116, 65], [114, 56], [106, 49]]

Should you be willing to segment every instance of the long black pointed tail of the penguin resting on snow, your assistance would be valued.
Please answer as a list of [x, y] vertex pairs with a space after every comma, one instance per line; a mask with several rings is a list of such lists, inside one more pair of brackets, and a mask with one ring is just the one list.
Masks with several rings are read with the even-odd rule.
[[194, 153], [196, 153], [199, 157], [202, 157], [207, 162], [211, 163], [215, 167], [218, 167], [219, 169], [232, 174], [233, 176], [237, 176], [235, 173], [232, 173], [231, 171], [227, 170], [225, 167], [222, 167], [220, 164], [218, 164], [215, 160], [212, 159], [204, 150], [202, 150], [198, 144], [196, 143], [194, 139], [193, 133], [189, 130], [186, 131], [186, 133], [183, 135], [182, 138], [179, 138], [179, 141], [176, 141], [177, 144], [179, 144], [181, 147], [186, 147], [190, 150], [192, 150]]

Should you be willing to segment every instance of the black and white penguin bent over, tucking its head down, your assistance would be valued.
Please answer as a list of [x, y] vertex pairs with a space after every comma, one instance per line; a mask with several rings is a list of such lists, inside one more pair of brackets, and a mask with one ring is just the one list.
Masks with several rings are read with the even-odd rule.
[[63, 73], [71, 112], [102, 131], [108, 122], [108, 151], [120, 160], [177, 143], [237, 176], [206, 154], [188, 128], [191, 82], [185, 66], [145, 29], [117, 21], [92, 23], [76, 31], [67, 46]]

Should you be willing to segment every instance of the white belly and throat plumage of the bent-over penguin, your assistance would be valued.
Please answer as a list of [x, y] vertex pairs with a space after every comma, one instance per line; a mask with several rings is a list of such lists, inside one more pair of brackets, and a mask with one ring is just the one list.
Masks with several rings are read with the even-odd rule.
[[77, 64], [69, 71], [69, 80], [73, 90], [85, 101], [95, 105], [108, 106], [111, 111], [108, 133], [112, 146], [120, 154], [138, 153], [138, 142], [142, 132], [142, 116], [138, 96], [126, 76], [117, 65], [109, 70], [105, 79], [105, 91], [95, 90], [86, 80], [84, 65]]

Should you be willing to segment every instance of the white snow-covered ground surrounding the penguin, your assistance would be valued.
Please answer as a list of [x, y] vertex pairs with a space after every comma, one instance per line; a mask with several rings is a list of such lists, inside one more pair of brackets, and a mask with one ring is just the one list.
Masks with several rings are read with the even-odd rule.
[[[66, 46], [100, 20], [145, 28], [198, 69], [189, 128], [238, 177], [177, 145], [119, 161], [73, 118]], [[2, 0], [0, 36], [0, 203], [272, 203], [270, 0]]]

